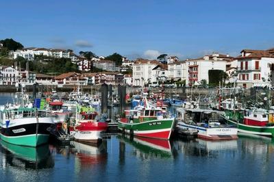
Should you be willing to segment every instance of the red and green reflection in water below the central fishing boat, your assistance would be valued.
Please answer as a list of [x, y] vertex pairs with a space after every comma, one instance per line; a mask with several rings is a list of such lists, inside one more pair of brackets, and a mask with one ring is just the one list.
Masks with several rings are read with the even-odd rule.
[[144, 159], [156, 157], [171, 157], [171, 142], [169, 140], [158, 140], [153, 138], [140, 138], [119, 134], [120, 142], [134, 146], [134, 155]]

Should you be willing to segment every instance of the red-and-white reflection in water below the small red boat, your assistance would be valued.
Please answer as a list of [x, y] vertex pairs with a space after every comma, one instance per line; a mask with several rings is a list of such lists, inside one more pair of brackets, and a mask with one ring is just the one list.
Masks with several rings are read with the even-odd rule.
[[106, 163], [108, 159], [105, 141], [99, 146], [73, 141], [71, 142], [71, 153], [75, 155], [75, 166], [79, 166], [79, 168], [89, 168], [95, 164]]

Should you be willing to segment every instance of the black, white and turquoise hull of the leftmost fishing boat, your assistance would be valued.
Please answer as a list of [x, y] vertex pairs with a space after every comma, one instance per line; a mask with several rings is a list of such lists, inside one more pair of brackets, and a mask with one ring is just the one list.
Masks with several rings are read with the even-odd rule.
[[36, 147], [49, 141], [51, 118], [20, 118], [10, 120], [9, 125], [1, 123], [1, 140], [10, 144]]

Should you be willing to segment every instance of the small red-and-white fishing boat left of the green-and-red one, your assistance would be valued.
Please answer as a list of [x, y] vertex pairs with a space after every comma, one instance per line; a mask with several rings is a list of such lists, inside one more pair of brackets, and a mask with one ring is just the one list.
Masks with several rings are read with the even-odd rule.
[[77, 113], [76, 123], [70, 127], [70, 133], [76, 141], [97, 144], [101, 142], [101, 133], [108, 129], [107, 122], [96, 120], [97, 112], [88, 107], [80, 108]]

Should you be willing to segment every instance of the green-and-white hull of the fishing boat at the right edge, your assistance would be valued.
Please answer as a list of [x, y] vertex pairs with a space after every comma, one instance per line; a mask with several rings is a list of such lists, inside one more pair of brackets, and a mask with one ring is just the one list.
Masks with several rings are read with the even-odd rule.
[[[225, 118], [225, 116], [222, 116], [222, 117]], [[238, 123], [238, 122], [236, 122], [234, 120], [230, 120], [228, 118], [225, 118], [225, 120], [227, 120], [227, 122], [229, 122], [229, 124], [238, 125], [239, 132], [274, 137], [274, 126], [271, 126], [271, 127], [250, 126], [250, 125]]]

